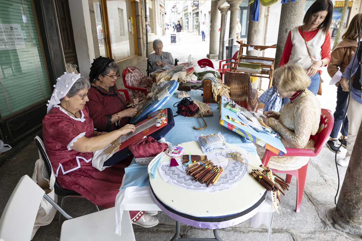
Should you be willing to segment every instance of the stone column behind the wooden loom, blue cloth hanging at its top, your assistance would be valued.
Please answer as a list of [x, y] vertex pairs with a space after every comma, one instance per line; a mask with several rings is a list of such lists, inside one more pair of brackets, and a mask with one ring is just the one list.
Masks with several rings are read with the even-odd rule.
[[[251, 9], [252, 9], [254, 3], [250, 4], [250, 12], [251, 12]], [[263, 40], [264, 40], [264, 33], [265, 33], [265, 31], [264, 31], [265, 7], [261, 4], [259, 4], [259, 5], [260, 5], [259, 21], [254, 22], [251, 20], [253, 16], [251, 16], [251, 15], [249, 16], [247, 44], [251, 44], [251, 43], [254, 43], [254, 45], [263, 45], [264, 44]], [[247, 55], [258, 56], [258, 51], [257, 50], [247, 51]], [[262, 56], [260, 55], [260, 57], [262, 57]]]

